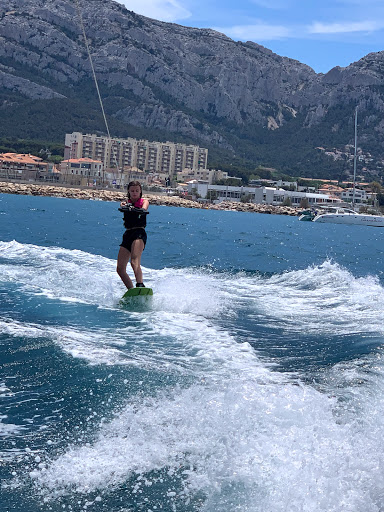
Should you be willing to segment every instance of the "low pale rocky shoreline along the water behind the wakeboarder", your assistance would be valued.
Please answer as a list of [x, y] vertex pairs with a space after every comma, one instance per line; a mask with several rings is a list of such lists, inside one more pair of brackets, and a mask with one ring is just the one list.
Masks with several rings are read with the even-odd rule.
[[[125, 192], [118, 190], [89, 189], [65, 187], [59, 185], [36, 183], [0, 182], [0, 194], [19, 194], [29, 196], [66, 197], [71, 199], [88, 199], [94, 201], [121, 202], [126, 198]], [[219, 204], [201, 204], [197, 201], [178, 196], [147, 194], [150, 204], [178, 206], [182, 208], [204, 208], [210, 210], [229, 210], [240, 212], [267, 213], [275, 215], [297, 215], [298, 209], [290, 206], [273, 206], [269, 204], [237, 203], [223, 201]]]

